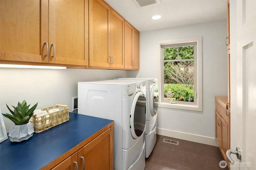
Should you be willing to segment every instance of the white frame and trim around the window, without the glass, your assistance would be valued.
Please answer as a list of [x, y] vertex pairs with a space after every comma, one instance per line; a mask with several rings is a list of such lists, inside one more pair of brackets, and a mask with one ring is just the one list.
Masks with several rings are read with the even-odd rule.
[[[176, 102], [176, 101], [164, 101], [164, 56], [163, 46], [166, 45], [179, 45], [186, 43], [196, 43], [196, 54], [194, 56], [194, 102]], [[185, 109], [192, 111], [202, 111], [202, 37], [190, 37], [184, 39], [172, 39], [159, 41], [159, 59], [160, 67], [158, 73], [158, 97], [159, 107], [168, 107], [174, 109]]]

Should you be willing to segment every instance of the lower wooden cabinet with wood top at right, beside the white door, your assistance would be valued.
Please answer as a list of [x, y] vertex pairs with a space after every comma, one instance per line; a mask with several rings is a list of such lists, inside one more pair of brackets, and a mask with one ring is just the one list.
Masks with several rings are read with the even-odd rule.
[[228, 164], [226, 151], [230, 149], [230, 112], [227, 97], [215, 97], [215, 139]]

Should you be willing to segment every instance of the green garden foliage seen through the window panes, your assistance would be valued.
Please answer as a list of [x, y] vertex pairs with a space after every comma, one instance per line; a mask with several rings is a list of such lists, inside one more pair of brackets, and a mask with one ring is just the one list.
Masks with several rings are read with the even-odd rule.
[[164, 48], [164, 84], [169, 84], [164, 87], [165, 100], [194, 102], [194, 61], [191, 59], [194, 59], [193, 45]]

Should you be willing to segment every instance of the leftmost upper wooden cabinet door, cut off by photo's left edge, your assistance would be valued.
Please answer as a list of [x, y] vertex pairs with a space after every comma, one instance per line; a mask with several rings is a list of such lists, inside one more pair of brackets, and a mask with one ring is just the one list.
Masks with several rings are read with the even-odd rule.
[[48, 63], [48, 1], [0, 0], [0, 60]]

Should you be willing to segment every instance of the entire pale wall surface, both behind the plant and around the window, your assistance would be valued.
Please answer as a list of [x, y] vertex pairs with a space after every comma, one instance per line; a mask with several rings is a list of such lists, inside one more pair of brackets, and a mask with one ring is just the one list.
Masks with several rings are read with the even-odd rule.
[[[227, 96], [226, 26], [226, 21], [218, 21], [141, 32], [139, 71], [0, 68], [0, 108], [2, 113], [9, 113], [6, 104], [16, 106], [18, 101], [24, 99], [29, 104], [38, 102], [37, 108], [55, 104], [65, 104], [71, 108], [71, 98], [77, 96], [78, 81], [158, 77], [158, 41], [202, 36], [203, 111], [159, 108], [157, 133], [216, 145], [214, 96]], [[12, 121], [4, 117], [4, 123], [9, 131]]]

